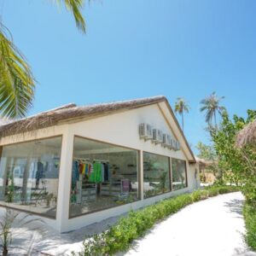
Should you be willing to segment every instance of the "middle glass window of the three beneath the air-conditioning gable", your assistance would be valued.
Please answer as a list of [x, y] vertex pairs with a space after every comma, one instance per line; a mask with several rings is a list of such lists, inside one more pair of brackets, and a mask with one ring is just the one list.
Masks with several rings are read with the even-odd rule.
[[169, 158], [143, 152], [144, 198], [170, 191]]

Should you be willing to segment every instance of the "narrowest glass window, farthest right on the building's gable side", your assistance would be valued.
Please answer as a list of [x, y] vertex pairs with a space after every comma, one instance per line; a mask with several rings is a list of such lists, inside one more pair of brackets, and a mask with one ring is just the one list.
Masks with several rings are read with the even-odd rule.
[[186, 161], [172, 158], [172, 189], [187, 187]]

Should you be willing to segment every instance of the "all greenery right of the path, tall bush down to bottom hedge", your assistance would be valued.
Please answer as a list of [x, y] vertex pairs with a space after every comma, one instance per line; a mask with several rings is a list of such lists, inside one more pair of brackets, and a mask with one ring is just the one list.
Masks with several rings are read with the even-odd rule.
[[[230, 119], [228, 113], [224, 112], [219, 128], [210, 131], [221, 170], [218, 182], [241, 185], [246, 198], [243, 210], [247, 228], [245, 239], [248, 246], [256, 250], [256, 152], [250, 145], [243, 148], [235, 146], [237, 133], [254, 119], [256, 110], [247, 110], [247, 119], [236, 115]], [[226, 188], [219, 189], [218, 193], [226, 193]]]

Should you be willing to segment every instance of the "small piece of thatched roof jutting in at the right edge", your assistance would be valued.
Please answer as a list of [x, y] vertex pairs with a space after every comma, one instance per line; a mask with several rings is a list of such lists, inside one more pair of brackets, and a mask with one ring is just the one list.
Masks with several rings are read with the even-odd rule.
[[236, 135], [236, 146], [242, 148], [246, 145], [256, 147], [256, 119]]

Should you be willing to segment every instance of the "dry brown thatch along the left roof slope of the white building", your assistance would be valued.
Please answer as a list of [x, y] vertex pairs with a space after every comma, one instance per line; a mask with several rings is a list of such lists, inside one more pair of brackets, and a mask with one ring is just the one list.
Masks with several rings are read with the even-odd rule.
[[7, 137], [26, 131], [37, 131], [61, 121], [69, 119], [91, 118], [102, 114], [115, 113], [132, 108], [140, 108], [149, 104], [167, 101], [165, 96], [154, 96], [125, 102], [102, 103], [84, 107], [68, 104], [47, 112], [38, 113], [26, 119], [13, 121], [7, 125], [0, 126], [0, 137]]

